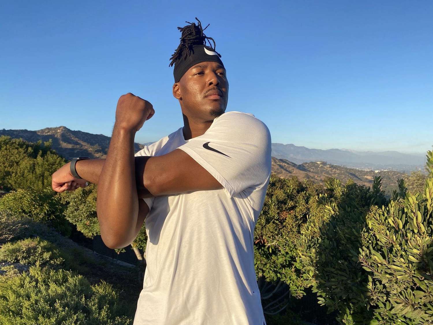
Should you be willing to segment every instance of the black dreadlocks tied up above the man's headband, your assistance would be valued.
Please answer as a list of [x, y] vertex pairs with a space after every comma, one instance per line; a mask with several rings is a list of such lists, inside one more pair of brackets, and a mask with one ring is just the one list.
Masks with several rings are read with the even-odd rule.
[[[210, 24], [208, 24], [203, 29], [200, 20], [198, 20], [197, 17], [195, 17], [195, 19], [198, 22], [197, 25], [195, 23], [185, 22], [189, 25], [185, 27], [178, 27], [178, 29], [182, 33], [182, 36], [180, 38], [181, 43], [179, 44], [174, 54], [171, 55], [171, 62], [169, 66], [173, 66], [176, 61], [181, 60], [182, 56], [183, 59], [186, 60], [187, 57], [191, 55], [191, 53], [194, 53], [194, 45], [206, 45], [206, 41], [209, 43], [209, 47], [212, 49], [212, 51], [215, 52], [219, 57], [221, 57], [221, 55], [215, 51], [215, 41], [213, 40], [213, 38], [207, 37], [203, 33]], [[210, 41], [213, 42], [213, 46]]]

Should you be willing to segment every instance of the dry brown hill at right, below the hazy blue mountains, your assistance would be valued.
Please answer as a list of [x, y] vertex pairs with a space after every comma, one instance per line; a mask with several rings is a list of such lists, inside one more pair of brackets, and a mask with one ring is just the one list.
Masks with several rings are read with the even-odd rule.
[[272, 172], [280, 177], [291, 178], [296, 176], [298, 179], [311, 179], [313, 182], [323, 184], [326, 177], [334, 177], [343, 184], [349, 179], [360, 185], [370, 186], [373, 183], [374, 176], [380, 175], [382, 178], [383, 188], [387, 194], [391, 194], [393, 189], [397, 189], [397, 179], [407, 178], [407, 174], [397, 171], [372, 171], [347, 168], [327, 164], [325, 162], [305, 162], [297, 165], [286, 159], [272, 157]]

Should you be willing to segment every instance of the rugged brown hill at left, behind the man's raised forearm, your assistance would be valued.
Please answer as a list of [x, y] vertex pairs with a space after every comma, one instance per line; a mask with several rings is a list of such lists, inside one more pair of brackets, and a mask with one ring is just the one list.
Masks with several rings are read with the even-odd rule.
[[[29, 142], [52, 139], [52, 149], [59, 155], [71, 160], [72, 157], [89, 156], [90, 158], [105, 158], [110, 145], [110, 137], [103, 134], [92, 134], [69, 130], [67, 127], [47, 127], [42, 130], [0, 130], [0, 135], [23, 139]], [[135, 151], [143, 149], [149, 143], [134, 143]]]

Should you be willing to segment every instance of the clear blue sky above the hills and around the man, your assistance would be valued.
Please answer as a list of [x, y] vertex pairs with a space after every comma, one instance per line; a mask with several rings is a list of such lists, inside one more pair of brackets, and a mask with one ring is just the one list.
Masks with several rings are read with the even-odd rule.
[[110, 136], [120, 95], [150, 101], [136, 135], [182, 126], [169, 58], [178, 26], [210, 23], [227, 110], [272, 142], [424, 153], [433, 145], [433, 1], [3, 1], [0, 129]]

